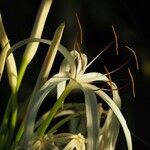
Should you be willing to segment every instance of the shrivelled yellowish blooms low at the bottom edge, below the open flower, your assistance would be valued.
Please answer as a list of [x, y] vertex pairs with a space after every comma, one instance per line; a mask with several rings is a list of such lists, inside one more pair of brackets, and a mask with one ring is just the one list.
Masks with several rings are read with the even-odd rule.
[[[69, 141], [69, 143], [68, 143]], [[68, 143], [64, 148], [62, 148], [63, 150], [85, 150], [85, 142], [86, 139], [83, 137], [83, 135], [81, 133], [79, 134], [58, 134], [58, 135], [45, 135], [43, 138], [40, 139], [35, 139], [35, 141], [33, 142], [34, 144], [30, 145], [28, 147], [28, 149], [38, 149], [38, 150], [59, 150], [59, 146], [55, 145], [55, 142], [57, 143], [56, 145], [62, 144], [64, 147], [64, 145], [66, 145], [66, 143]], [[18, 147], [15, 150], [19, 150]]]

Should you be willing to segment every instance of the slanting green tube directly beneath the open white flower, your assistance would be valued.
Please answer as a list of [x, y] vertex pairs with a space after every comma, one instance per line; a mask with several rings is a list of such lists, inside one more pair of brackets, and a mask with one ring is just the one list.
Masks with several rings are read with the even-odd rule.
[[45, 131], [47, 130], [47, 128], [49, 126], [49, 124], [51, 123], [52, 119], [56, 115], [58, 109], [62, 106], [65, 98], [75, 88], [76, 88], [75, 82], [74, 81], [70, 81], [68, 86], [65, 88], [64, 92], [61, 94], [61, 96], [59, 97], [59, 99], [56, 101], [56, 103], [54, 104], [53, 108], [49, 112], [46, 120], [43, 121], [43, 123], [41, 124], [41, 126], [37, 130], [37, 133], [38, 133], [39, 137], [42, 137], [44, 135]]

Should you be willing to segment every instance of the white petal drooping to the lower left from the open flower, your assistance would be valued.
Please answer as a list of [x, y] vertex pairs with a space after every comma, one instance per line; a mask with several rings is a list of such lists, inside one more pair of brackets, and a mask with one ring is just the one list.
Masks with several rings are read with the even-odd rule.
[[59, 82], [67, 79], [68, 78], [65, 74], [57, 74], [49, 79], [33, 97], [31, 96], [25, 124], [24, 142], [28, 142], [33, 134], [35, 118], [44, 98], [56, 87]]

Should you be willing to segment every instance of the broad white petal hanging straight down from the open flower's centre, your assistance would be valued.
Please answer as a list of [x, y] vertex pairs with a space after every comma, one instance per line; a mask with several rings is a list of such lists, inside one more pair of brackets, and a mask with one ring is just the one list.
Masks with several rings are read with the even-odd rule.
[[93, 91], [83, 87], [85, 95], [86, 119], [87, 119], [87, 149], [97, 150], [99, 147], [99, 117], [97, 99]]

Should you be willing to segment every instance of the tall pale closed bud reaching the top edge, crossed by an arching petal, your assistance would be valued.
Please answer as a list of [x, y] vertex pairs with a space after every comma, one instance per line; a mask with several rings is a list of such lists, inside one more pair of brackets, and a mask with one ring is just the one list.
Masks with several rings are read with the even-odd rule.
[[[42, 0], [32, 29], [32, 33], [30, 36], [31, 38], [41, 38], [51, 4], [52, 4], [52, 0]], [[33, 57], [35, 56], [38, 46], [39, 43], [28, 43], [26, 46], [25, 52], [23, 54], [22, 62], [20, 65], [20, 69], [18, 72], [16, 91], [18, 91], [20, 88], [26, 68], [28, 64], [32, 61]]]

